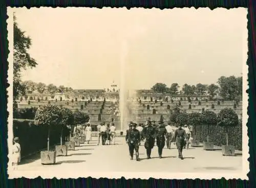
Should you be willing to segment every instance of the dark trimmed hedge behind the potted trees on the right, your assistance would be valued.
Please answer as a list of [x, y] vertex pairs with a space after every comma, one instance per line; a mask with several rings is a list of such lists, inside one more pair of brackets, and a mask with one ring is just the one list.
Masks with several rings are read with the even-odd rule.
[[[195, 130], [194, 130], [195, 131]], [[225, 127], [209, 126], [209, 142], [214, 142], [216, 146], [226, 145]], [[236, 150], [242, 151], [242, 122], [238, 126], [228, 127], [228, 143]], [[201, 133], [200, 133], [201, 132]], [[207, 141], [207, 126], [197, 126], [197, 139], [200, 142]]]

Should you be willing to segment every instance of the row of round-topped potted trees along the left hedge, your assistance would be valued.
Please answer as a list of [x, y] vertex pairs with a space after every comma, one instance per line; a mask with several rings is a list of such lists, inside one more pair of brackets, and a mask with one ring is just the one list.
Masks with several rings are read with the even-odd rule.
[[48, 151], [50, 131], [55, 126], [61, 126], [60, 145], [62, 145], [62, 131], [67, 125], [77, 126], [89, 122], [90, 117], [87, 113], [79, 110], [72, 112], [62, 106], [47, 105], [39, 107], [35, 114], [35, 124], [48, 126]]

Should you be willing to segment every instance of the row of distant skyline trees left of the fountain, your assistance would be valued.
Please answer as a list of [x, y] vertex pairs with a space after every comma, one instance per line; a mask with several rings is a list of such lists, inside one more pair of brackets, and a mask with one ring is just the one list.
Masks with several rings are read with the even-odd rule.
[[39, 93], [56, 93], [56, 92], [70, 92], [73, 91], [72, 87], [65, 87], [63, 85], [55, 86], [53, 84], [46, 85], [44, 83], [35, 83], [33, 81], [25, 81], [22, 83], [25, 88], [25, 93], [33, 93], [37, 91]]

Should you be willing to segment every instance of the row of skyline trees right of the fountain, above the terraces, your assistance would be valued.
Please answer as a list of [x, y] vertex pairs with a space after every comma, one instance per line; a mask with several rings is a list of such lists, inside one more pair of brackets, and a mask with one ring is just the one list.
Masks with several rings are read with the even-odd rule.
[[242, 98], [242, 77], [220, 77], [217, 84], [188, 85], [184, 84], [181, 89], [178, 83], [173, 83], [167, 87], [164, 83], [156, 83], [151, 89], [160, 93], [170, 93], [173, 95], [209, 95], [210, 100], [216, 95], [220, 95], [225, 100], [241, 100]]

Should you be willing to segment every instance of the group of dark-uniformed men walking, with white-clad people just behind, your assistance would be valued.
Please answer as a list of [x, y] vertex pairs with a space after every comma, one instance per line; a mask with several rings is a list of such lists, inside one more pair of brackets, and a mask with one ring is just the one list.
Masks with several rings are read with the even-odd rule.
[[184, 126], [184, 129], [181, 126], [178, 126], [178, 128], [173, 127], [170, 125], [170, 122], [167, 126], [162, 121], [159, 121], [158, 125], [156, 125], [156, 122], [151, 121], [149, 118], [145, 126], [130, 122], [125, 140], [129, 146], [131, 160], [133, 160], [134, 150], [136, 152], [136, 160], [139, 160], [139, 145], [142, 140], [145, 140], [144, 147], [146, 149], [147, 159], [151, 158], [151, 151], [155, 146], [155, 142], [158, 147], [159, 158], [162, 158], [165, 141], [168, 149], [170, 149], [172, 142], [175, 142], [179, 152], [179, 158], [183, 159], [182, 150], [183, 148], [188, 148], [190, 135], [191, 131], [187, 125]]

